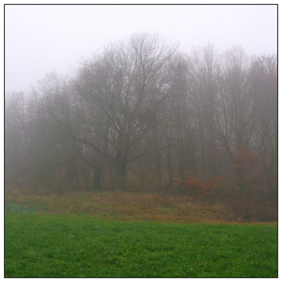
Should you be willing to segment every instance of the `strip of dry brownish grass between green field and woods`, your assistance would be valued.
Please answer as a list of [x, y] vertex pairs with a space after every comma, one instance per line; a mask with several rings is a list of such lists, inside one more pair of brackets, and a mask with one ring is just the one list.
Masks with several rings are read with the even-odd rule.
[[[31, 187], [6, 187], [5, 201], [38, 208], [41, 213], [87, 213], [120, 220], [150, 220], [158, 222], [275, 222], [259, 220], [252, 215], [244, 218], [239, 205], [207, 203], [183, 195], [141, 192], [73, 191], [64, 195]], [[243, 210], [243, 213], [242, 213]], [[255, 213], [255, 210], [253, 211]], [[270, 211], [269, 211], [270, 212]], [[273, 213], [273, 211], [271, 210]], [[275, 211], [274, 211], [275, 212]], [[252, 213], [252, 211], [249, 211]], [[277, 216], [276, 216], [277, 217]], [[274, 218], [274, 220], [273, 220]]]

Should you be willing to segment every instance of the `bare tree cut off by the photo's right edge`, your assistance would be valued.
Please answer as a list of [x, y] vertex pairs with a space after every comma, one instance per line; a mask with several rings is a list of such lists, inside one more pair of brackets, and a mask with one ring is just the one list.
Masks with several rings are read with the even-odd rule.
[[261, 157], [268, 190], [277, 195], [278, 183], [278, 96], [277, 56], [253, 58], [250, 69], [250, 91], [255, 107], [255, 140]]

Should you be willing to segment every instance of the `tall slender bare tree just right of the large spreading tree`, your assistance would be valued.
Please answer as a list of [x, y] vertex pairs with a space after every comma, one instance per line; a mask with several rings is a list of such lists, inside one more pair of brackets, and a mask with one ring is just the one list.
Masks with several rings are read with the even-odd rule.
[[206, 164], [208, 164], [209, 175], [215, 176], [218, 169], [218, 154], [214, 115], [217, 110], [216, 99], [219, 93], [221, 58], [213, 44], [209, 43], [207, 46], [192, 50], [189, 72], [199, 122], [203, 172], [205, 175]]

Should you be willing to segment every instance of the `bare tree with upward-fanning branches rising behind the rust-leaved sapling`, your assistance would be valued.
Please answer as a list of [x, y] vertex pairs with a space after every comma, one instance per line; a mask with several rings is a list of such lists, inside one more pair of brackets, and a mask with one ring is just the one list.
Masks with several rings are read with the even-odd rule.
[[[255, 125], [254, 107], [249, 92], [248, 57], [243, 48], [227, 49], [223, 59], [214, 132], [232, 164], [241, 147], [249, 145]], [[236, 170], [236, 176], [244, 189], [243, 172]]]

